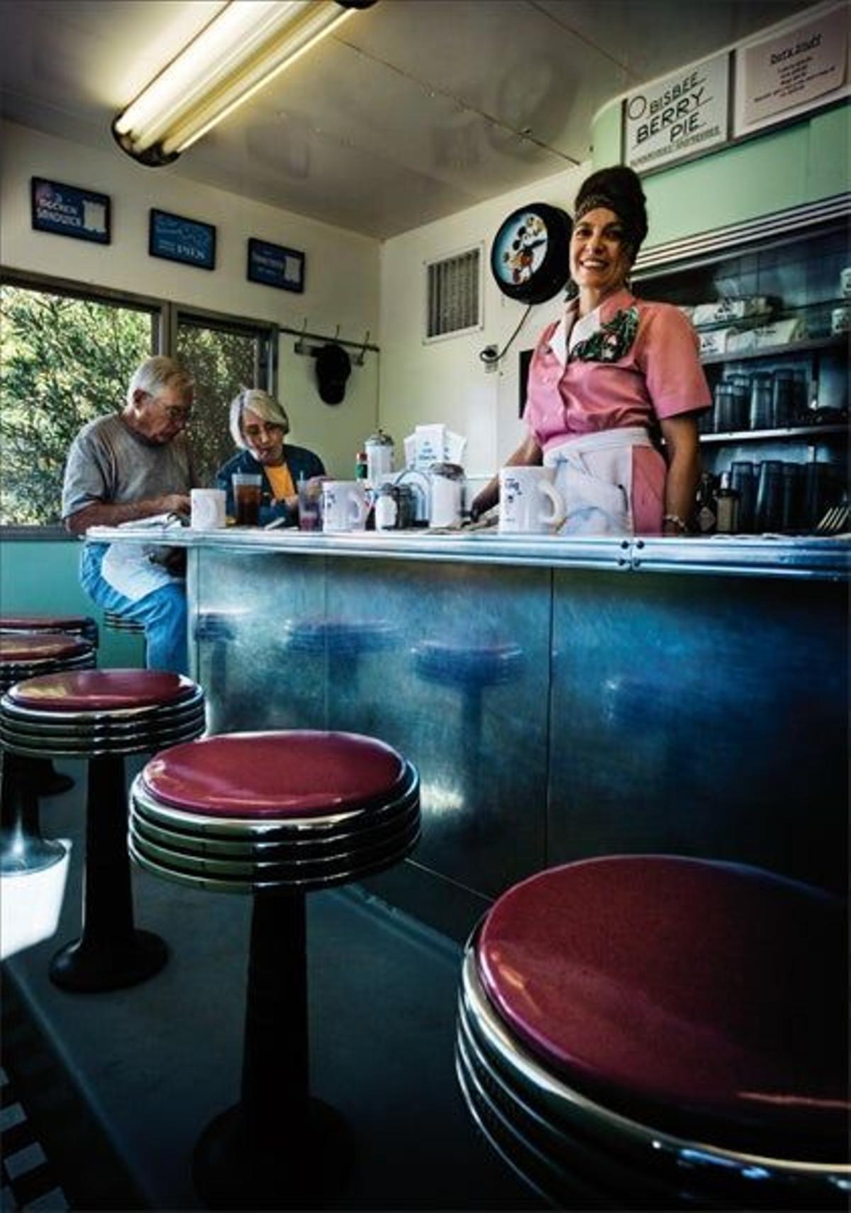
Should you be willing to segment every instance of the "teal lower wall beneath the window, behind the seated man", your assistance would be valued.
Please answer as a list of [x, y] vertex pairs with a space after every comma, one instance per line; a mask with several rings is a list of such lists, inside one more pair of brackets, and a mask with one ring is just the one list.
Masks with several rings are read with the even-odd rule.
[[143, 666], [142, 638], [104, 632], [103, 613], [80, 588], [80, 547], [76, 540], [1, 540], [0, 615], [91, 615], [101, 631], [99, 666]]

